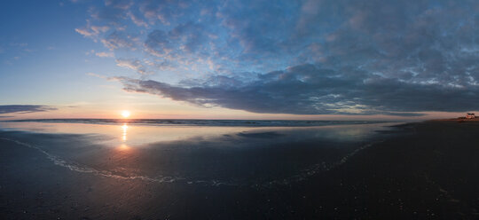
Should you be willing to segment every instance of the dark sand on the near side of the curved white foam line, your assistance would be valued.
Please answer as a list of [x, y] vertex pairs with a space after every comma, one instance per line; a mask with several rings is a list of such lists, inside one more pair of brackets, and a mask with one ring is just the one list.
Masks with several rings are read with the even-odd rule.
[[333, 169], [271, 187], [94, 176], [0, 139], [0, 213], [2, 219], [479, 217], [479, 122], [418, 122], [385, 133]]

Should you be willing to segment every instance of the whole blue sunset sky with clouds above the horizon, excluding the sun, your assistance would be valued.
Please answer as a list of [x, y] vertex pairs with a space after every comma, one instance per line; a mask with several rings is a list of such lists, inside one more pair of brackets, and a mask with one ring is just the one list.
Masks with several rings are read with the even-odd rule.
[[479, 110], [475, 0], [9, 1], [0, 120]]

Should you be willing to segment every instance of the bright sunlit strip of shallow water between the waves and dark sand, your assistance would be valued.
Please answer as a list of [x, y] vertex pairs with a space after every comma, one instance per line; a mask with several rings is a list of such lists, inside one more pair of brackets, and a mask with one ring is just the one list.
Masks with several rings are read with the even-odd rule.
[[[224, 135], [256, 132], [278, 132], [283, 135], [302, 135], [304, 137], [333, 138], [352, 141], [373, 134], [382, 126], [395, 123], [330, 125], [319, 127], [227, 127], [227, 126], [189, 126], [189, 125], [145, 125], [123, 122], [119, 124], [63, 123], [63, 122], [0, 122], [0, 129], [26, 130], [40, 133], [96, 134], [105, 138], [92, 138], [98, 144], [119, 148], [150, 147], [152, 143], [171, 142], [189, 138], [221, 138]], [[159, 135], [161, 134], [161, 135]], [[131, 150], [131, 149], [130, 149]]]

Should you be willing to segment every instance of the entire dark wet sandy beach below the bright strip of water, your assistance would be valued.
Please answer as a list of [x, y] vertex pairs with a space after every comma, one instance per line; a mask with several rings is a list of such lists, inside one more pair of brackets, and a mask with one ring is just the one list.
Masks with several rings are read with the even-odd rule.
[[2, 131], [0, 212], [3, 219], [478, 217], [479, 122], [335, 128], [230, 130], [130, 150], [85, 146], [83, 135]]

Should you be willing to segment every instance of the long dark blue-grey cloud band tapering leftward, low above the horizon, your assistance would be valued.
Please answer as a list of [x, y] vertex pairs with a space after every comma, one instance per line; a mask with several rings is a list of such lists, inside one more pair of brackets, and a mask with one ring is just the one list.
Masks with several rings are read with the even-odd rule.
[[471, 101], [479, 95], [478, 89], [380, 78], [363, 81], [364, 76], [361, 72], [340, 75], [331, 69], [302, 65], [257, 75], [251, 82], [217, 76], [203, 83], [176, 86], [153, 80], [118, 79], [127, 91], [254, 113], [418, 116], [421, 114], [409, 112], [479, 109], [479, 102]]

